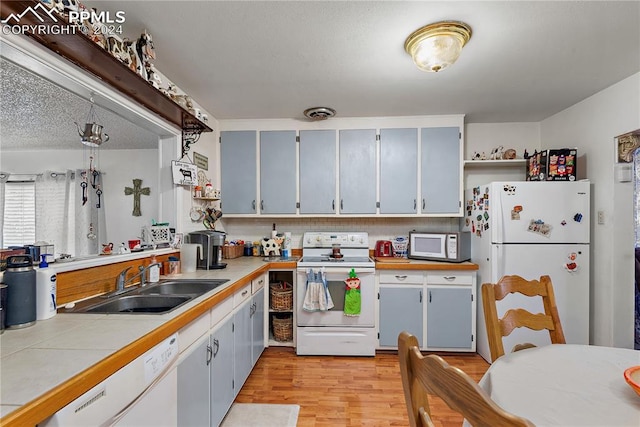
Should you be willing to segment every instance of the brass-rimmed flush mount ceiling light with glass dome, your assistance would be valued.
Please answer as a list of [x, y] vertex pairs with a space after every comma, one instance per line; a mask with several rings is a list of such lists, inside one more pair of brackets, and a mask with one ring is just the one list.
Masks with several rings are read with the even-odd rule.
[[437, 73], [456, 62], [470, 38], [471, 27], [464, 22], [436, 22], [417, 29], [407, 37], [404, 50], [418, 68]]

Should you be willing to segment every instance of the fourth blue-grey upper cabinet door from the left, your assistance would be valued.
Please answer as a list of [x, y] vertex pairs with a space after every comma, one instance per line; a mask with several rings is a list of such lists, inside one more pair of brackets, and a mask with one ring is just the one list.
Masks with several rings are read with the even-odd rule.
[[376, 213], [376, 131], [340, 131], [340, 213]]

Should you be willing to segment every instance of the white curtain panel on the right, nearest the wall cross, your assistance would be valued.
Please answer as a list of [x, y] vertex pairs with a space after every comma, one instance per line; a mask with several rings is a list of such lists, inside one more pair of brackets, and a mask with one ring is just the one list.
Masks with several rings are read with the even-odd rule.
[[[74, 183], [75, 196], [75, 245], [76, 254], [96, 255], [102, 249], [102, 243], [107, 243], [107, 222], [105, 216], [104, 195], [100, 197], [100, 207], [98, 207], [98, 189], [102, 189], [102, 174], [97, 172], [94, 178], [87, 174], [86, 181], [83, 173], [86, 169], [76, 170]], [[86, 191], [83, 192], [82, 183], [86, 182]], [[84, 194], [83, 194], [84, 193]], [[86, 196], [86, 202], [83, 197]]]

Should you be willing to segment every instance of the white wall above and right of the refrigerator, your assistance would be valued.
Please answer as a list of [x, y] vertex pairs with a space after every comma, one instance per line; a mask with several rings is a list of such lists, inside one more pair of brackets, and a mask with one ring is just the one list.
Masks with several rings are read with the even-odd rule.
[[[577, 147], [592, 181], [591, 342], [633, 348], [633, 184], [614, 180], [615, 137], [640, 128], [640, 73], [541, 122], [542, 148]], [[579, 165], [580, 166], [580, 165]], [[581, 172], [578, 171], [580, 175]]]

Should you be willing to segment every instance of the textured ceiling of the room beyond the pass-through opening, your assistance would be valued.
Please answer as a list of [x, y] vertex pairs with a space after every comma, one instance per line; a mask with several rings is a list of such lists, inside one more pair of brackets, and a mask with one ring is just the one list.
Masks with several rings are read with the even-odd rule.
[[[0, 60], [0, 150], [83, 149], [74, 122], [84, 128], [91, 103], [7, 60]], [[154, 149], [153, 133], [96, 107], [109, 141], [100, 149]]]

